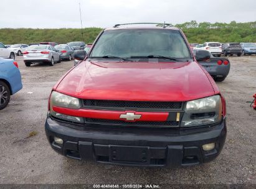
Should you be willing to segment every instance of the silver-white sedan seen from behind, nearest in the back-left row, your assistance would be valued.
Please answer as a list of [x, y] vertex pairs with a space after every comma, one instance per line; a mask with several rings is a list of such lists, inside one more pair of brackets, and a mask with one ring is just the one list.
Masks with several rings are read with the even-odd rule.
[[61, 52], [52, 45], [31, 45], [23, 52], [24, 63], [30, 67], [31, 63], [49, 63], [53, 66], [55, 62], [60, 62]]

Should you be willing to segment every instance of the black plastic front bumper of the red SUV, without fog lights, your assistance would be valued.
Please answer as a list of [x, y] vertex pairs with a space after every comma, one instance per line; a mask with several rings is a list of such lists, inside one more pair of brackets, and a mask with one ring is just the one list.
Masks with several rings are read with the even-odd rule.
[[[147, 129], [77, 126], [48, 117], [45, 133], [51, 147], [73, 159], [149, 167], [197, 165], [215, 159], [224, 146], [225, 119], [214, 126], [189, 129]], [[59, 137], [62, 145], [54, 142]], [[202, 150], [214, 142], [215, 149]]]

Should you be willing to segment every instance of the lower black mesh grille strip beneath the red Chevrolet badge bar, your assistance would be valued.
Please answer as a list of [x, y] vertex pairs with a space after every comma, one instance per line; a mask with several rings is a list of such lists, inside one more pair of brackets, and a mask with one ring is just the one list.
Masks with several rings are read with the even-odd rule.
[[136, 121], [128, 122], [111, 119], [85, 118], [85, 124], [100, 124], [105, 126], [145, 126], [145, 127], [179, 127], [178, 121]]

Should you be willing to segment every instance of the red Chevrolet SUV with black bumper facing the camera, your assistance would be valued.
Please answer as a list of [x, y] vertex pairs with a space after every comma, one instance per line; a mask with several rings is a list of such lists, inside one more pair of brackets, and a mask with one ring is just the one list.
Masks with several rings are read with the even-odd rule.
[[169, 25], [103, 30], [52, 89], [45, 132], [73, 159], [173, 167], [217, 157], [225, 99]]

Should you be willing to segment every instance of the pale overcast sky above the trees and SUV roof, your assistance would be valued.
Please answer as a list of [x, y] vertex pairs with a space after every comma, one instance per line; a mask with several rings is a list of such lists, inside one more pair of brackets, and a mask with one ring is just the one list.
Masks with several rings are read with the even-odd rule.
[[256, 0], [1, 0], [0, 28], [112, 27], [133, 22], [251, 22]]

